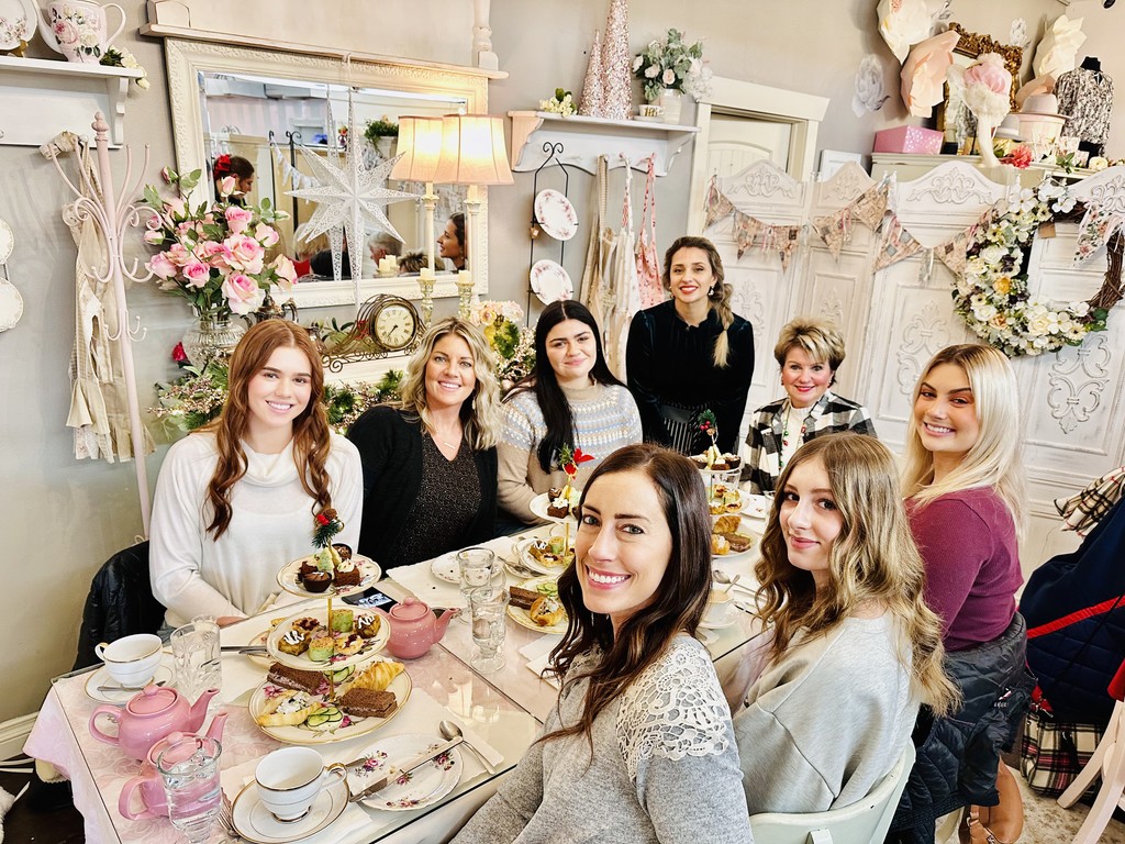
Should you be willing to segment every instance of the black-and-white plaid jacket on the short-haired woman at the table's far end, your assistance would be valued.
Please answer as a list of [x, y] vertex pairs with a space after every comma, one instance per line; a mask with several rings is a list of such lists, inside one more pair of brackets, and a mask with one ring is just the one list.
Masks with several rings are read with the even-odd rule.
[[[771, 402], [754, 412], [750, 431], [746, 437], [750, 456], [742, 470], [742, 481], [750, 482], [750, 492], [772, 493], [781, 477], [781, 436], [789, 398]], [[862, 404], [840, 398], [831, 390], [825, 390], [820, 401], [809, 408], [804, 417], [802, 443], [828, 433], [853, 431], [875, 436], [871, 414]]]

